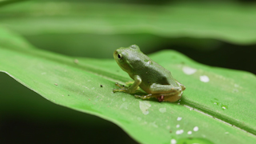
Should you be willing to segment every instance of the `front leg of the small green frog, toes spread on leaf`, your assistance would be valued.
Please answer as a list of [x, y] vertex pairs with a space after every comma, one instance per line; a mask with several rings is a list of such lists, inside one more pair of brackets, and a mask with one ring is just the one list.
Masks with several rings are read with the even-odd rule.
[[122, 91], [128, 94], [135, 94], [137, 92], [138, 86], [142, 83], [142, 78], [140, 78], [138, 75], [134, 76], [134, 83], [129, 86], [121, 86], [120, 84], [116, 83], [116, 86], [120, 87], [121, 89], [114, 89], [113, 92]]

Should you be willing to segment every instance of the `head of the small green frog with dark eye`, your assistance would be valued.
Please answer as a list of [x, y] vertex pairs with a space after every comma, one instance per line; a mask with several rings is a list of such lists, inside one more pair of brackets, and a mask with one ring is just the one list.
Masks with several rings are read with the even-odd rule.
[[135, 59], [138, 58], [138, 54], [141, 53], [141, 50], [137, 45], [132, 45], [129, 47], [120, 47], [114, 51], [114, 59], [122, 70], [130, 74], [133, 70], [132, 64]]

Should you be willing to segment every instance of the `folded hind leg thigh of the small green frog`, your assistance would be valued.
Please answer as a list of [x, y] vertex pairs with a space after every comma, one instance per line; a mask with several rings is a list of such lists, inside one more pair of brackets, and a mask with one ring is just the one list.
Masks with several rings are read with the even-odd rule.
[[153, 83], [150, 86], [150, 92], [151, 94], [163, 94], [163, 93], [177, 93], [181, 91], [182, 88], [177, 86], [171, 86], [171, 85], [161, 85], [161, 84], [155, 84]]

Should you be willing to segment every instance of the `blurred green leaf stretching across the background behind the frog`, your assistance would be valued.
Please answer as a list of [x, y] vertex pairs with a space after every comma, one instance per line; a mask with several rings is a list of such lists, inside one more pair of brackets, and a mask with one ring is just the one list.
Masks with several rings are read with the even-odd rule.
[[256, 42], [255, 6], [236, 2], [152, 6], [28, 1], [3, 6], [0, 22], [24, 35], [146, 33], [252, 44]]

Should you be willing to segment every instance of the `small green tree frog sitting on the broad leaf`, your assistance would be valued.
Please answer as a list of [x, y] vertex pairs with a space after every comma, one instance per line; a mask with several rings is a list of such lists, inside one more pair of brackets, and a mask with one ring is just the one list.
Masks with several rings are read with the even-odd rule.
[[[138, 46], [121, 47], [114, 51], [114, 59], [122, 70], [134, 79], [134, 83], [127, 87], [119, 83], [115, 85], [120, 89], [113, 92], [122, 91], [128, 94], [135, 94], [135, 98], [158, 98], [159, 102], [176, 102], [182, 98], [182, 91], [186, 89], [180, 82], [176, 81], [169, 70], [154, 62], [142, 53]], [[136, 95], [138, 86], [147, 95]]]

